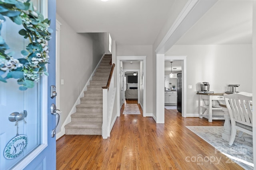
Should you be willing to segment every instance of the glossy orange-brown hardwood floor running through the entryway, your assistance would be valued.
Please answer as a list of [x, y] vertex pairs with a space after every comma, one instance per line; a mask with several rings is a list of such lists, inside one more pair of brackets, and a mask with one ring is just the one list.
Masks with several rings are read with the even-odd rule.
[[[185, 127], [223, 124], [224, 121], [209, 123], [206, 119], [184, 118], [177, 110], [167, 109], [164, 124], [156, 124], [152, 117], [142, 114], [121, 114], [108, 139], [99, 135], [64, 135], [58, 139], [56, 167], [57, 170], [242, 169]], [[199, 156], [205, 158], [203, 162], [193, 159]]]

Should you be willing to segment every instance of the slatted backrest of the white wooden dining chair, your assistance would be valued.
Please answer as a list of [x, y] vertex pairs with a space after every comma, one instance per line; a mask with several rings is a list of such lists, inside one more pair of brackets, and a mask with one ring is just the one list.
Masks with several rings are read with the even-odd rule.
[[252, 124], [252, 94], [246, 92], [224, 94], [230, 119]]

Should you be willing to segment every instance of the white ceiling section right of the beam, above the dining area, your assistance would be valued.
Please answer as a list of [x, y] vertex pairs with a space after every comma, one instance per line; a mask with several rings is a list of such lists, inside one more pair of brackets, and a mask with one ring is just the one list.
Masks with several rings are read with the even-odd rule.
[[176, 45], [252, 43], [252, 1], [220, 0]]

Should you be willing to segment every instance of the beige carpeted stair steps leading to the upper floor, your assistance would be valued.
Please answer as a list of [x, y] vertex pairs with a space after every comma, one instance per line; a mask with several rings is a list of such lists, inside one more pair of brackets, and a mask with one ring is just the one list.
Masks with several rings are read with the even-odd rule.
[[102, 87], [107, 85], [111, 70], [112, 55], [104, 55], [84, 97], [76, 106], [76, 113], [71, 115], [71, 122], [65, 125], [66, 135], [101, 135], [102, 134]]

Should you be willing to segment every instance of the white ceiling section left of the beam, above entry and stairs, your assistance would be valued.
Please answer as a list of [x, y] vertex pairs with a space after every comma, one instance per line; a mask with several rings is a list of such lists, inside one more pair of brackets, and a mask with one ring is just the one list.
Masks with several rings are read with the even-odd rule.
[[152, 45], [175, 0], [56, 0], [76, 32], [110, 32], [118, 45]]

